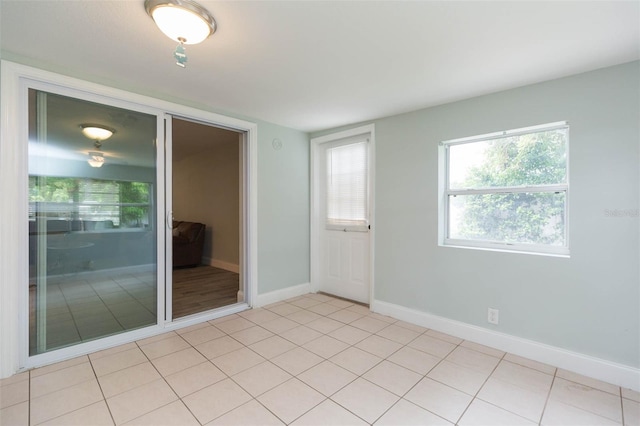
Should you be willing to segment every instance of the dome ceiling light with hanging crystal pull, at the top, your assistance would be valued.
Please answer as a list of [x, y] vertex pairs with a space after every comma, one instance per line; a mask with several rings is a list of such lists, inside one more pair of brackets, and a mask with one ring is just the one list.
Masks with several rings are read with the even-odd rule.
[[177, 41], [176, 65], [187, 63], [185, 44], [197, 44], [216, 31], [216, 21], [207, 9], [192, 0], [145, 0], [144, 8], [160, 31]]

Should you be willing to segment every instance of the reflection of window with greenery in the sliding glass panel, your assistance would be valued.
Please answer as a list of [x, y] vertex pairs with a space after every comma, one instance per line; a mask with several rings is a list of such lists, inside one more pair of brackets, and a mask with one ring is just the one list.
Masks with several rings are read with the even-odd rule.
[[29, 219], [78, 220], [83, 230], [144, 228], [150, 223], [147, 182], [90, 178], [29, 177]]

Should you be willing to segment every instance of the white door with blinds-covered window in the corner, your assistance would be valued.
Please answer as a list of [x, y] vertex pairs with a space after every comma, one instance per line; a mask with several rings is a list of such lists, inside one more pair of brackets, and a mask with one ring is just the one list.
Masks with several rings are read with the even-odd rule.
[[369, 303], [372, 133], [314, 140], [314, 280], [319, 291]]

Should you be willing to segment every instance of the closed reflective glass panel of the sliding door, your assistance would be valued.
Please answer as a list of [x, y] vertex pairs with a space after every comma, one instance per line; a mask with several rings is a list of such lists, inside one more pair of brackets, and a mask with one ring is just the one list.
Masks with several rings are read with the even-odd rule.
[[157, 322], [156, 120], [29, 90], [29, 354]]

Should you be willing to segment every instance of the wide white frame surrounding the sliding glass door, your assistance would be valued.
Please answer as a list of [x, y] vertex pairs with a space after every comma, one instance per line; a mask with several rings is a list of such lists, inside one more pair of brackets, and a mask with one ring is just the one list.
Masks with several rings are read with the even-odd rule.
[[[2, 98], [0, 104], [0, 193], [4, 203], [0, 205], [0, 378], [26, 368], [38, 367], [64, 359], [85, 355], [108, 347], [120, 345], [167, 330], [186, 327], [209, 319], [218, 318], [230, 313], [239, 312], [252, 306], [257, 300], [258, 271], [258, 220], [257, 220], [257, 152], [258, 125], [245, 120], [227, 117], [212, 112], [199, 110], [148, 96], [138, 95], [125, 90], [115, 89], [96, 83], [56, 74], [49, 71], [20, 65], [9, 61], [1, 61]], [[28, 154], [25, 139], [28, 107], [24, 99], [25, 84], [35, 81], [69, 88], [70, 91], [83, 92], [87, 96], [107, 97], [114, 102], [137, 104], [141, 109], [150, 108], [168, 114], [192, 118], [193, 120], [211, 123], [219, 127], [229, 128], [246, 134], [245, 155], [247, 175], [243, 182], [243, 191], [247, 206], [244, 210], [243, 225], [245, 241], [244, 282], [245, 303], [221, 308], [215, 312], [194, 315], [184, 320], [168, 322], [164, 316], [164, 297], [158, 294], [159, 318], [156, 325], [133, 330], [103, 339], [80, 343], [67, 348], [47, 352], [35, 357], [28, 356], [28, 230], [27, 230], [27, 186], [28, 186]], [[161, 127], [160, 125], [158, 127]], [[158, 131], [159, 145], [164, 145], [164, 129]], [[158, 147], [158, 151], [163, 151]], [[163, 154], [158, 153], [158, 160]], [[160, 186], [161, 182], [157, 182]], [[164, 188], [162, 188], [164, 191]], [[164, 212], [164, 194], [158, 194], [159, 210]], [[158, 222], [166, 220], [158, 218]], [[163, 228], [164, 229], [164, 228]], [[164, 235], [164, 234], [162, 234]], [[158, 238], [161, 238], [158, 236]], [[160, 241], [158, 246], [163, 245]], [[164, 253], [158, 258], [164, 262]], [[162, 279], [164, 265], [159, 268]], [[26, 307], [26, 308], [25, 308]], [[26, 326], [25, 326], [26, 324]]]

